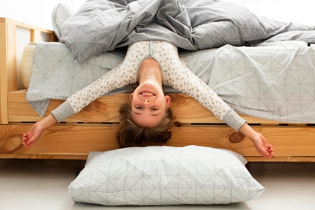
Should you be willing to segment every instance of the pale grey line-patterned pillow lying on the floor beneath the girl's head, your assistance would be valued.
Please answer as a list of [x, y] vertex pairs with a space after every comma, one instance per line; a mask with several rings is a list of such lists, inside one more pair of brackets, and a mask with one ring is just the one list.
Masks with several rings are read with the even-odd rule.
[[68, 187], [76, 202], [101, 205], [228, 204], [265, 190], [229, 150], [149, 146], [91, 152]]

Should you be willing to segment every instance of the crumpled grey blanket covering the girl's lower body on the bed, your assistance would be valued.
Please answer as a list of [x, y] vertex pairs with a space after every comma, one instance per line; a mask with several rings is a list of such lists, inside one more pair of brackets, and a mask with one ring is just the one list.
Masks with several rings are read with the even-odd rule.
[[142, 40], [199, 50], [253, 45], [284, 32], [314, 29], [260, 17], [217, 0], [90, 0], [61, 26], [60, 41], [81, 63]]

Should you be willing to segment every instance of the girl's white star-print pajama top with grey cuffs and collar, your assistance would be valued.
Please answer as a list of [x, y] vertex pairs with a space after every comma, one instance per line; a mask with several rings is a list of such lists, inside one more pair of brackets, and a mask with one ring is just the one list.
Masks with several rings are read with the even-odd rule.
[[233, 129], [238, 131], [246, 122], [190, 71], [177, 47], [165, 41], [141, 41], [130, 45], [124, 60], [116, 67], [70, 96], [51, 113], [61, 122], [104, 94], [136, 83], [139, 67], [145, 58], [154, 58], [160, 64], [164, 85], [192, 96]]

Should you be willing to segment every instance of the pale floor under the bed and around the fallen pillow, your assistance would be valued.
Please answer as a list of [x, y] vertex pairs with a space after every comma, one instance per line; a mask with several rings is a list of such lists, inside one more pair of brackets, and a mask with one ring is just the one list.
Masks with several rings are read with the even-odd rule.
[[267, 189], [260, 198], [229, 205], [119, 206], [73, 202], [67, 186], [84, 167], [77, 160], [0, 160], [0, 209], [315, 209], [315, 163], [248, 163]]

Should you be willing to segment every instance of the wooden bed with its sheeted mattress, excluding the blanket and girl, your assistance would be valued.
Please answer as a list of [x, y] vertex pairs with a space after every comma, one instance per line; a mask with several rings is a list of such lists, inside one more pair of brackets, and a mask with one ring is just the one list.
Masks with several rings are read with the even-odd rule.
[[[151, 1], [152, 4], [155, 2], [156, 1]], [[198, 2], [195, 2], [194, 4], [197, 3]], [[91, 151], [109, 151], [117, 149], [118, 144], [114, 139], [118, 122], [118, 109], [120, 104], [127, 101], [130, 89], [118, 90], [115, 94], [110, 94], [97, 99], [81, 112], [46, 130], [42, 134], [40, 141], [31, 148], [24, 148], [22, 146], [21, 137], [24, 132], [31, 128], [34, 122], [47, 116], [51, 110], [61, 104], [73, 91], [92, 82], [95, 80], [95, 77], [101, 76], [104, 73], [103, 71], [109, 71], [115, 63], [123, 59], [125, 46], [130, 44], [131, 39], [121, 36], [119, 40], [114, 39], [111, 42], [111, 45], [101, 54], [93, 54], [96, 53], [93, 51], [93, 53], [89, 53], [89, 56], [83, 54], [76, 56], [72, 53], [75, 51], [70, 50], [72, 45], [67, 46], [67, 44], [64, 43], [51, 42], [54, 40], [52, 31], [4, 18], [1, 19], [0, 23], [2, 24], [0, 28], [1, 33], [7, 37], [6, 39], [1, 40], [3, 43], [1, 44], [0, 79], [0, 158], [87, 159], [88, 154]], [[27, 90], [26, 88], [17, 90], [16, 85], [16, 35], [14, 31], [17, 26], [28, 28], [30, 29], [31, 34], [34, 34], [30, 40], [33, 44], [25, 47], [22, 58], [23, 81]], [[289, 24], [289, 26], [285, 28], [290, 27], [301, 29], [301, 27], [304, 26], [293, 26], [292, 24]], [[64, 30], [65, 28], [66, 27], [64, 27]], [[72, 30], [72, 28], [69, 30]], [[181, 53], [184, 58], [186, 58], [185, 61], [187, 65], [192, 71], [195, 71], [195, 74], [199, 74], [198, 76], [207, 81], [223, 100], [240, 113], [240, 115], [244, 117], [254, 129], [261, 132], [267, 138], [268, 142], [274, 146], [274, 157], [271, 159], [260, 157], [249, 139], [244, 138], [242, 134], [235, 132], [232, 128], [218, 120], [212, 113], [190, 96], [178, 93], [172, 89], [168, 90], [169, 95], [172, 98], [171, 108], [176, 116], [176, 120], [181, 123], [181, 126], [172, 127], [172, 138], [166, 143], [167, 146], [182, 147], [187, 145], [198, 145], [223, 148], [241, 154], [247, 161], [315, 161], [315, 120], [312, 118], [314, 117], [312, 116], [312, 113], [314, 113], [313, 109], [315, 107], [315, 103], [313, 102], [315, 100], [313, 83], [315, 74], [313, 70], [314, 64], [311, 65], [313, 63], [312, 60], [314, 60], [313, 56], [315, 56], [315, 48], [312, 45], [312, 41], [315, 40], [313, 39], [314, 35], [311, 28], [304, 30], [306, 31], [306, 34], [301, 32], [303, 30], [292, 29], [286, 33], [282, 33], [283, 28], [281, 30], [281, 33], [278, 31], [278, 34], [274, 34], [268, 40], [259, 41], [259, 43], [257, 43], [257, 40], [253, 40], [251, 43], [239, 44], [246, 44], [247, 46], [233, 46], [237, 44], [231, 43], [224, 44], [223, 46], [212, 45], [212, 47], [210, 47], [211, 49], [208, 49], [209, 47], [207, 46], [205, 49], [198, 49], [197, 51], [195, 51], [195, 49], [190, 49], [192, 46], [189, 44], [187, 45], [184, 42], [183, 43], [186, 46], [179, 46], [181, 47]], [[45, 42], [40, 41], [38, 36], [36, 38], [37, 31], [50, 34], [50, 40]], [[296, 33], [293, 33], [294, 31]], [[117, 38], [117, 36], [115, 37]], [[294, 41], [291, 40], [292, 37], [295, 38]], [[112, 44], [118, 41], [123, 44]], [[201, 45], [202, 43], [200, 43], [200, 46]], [[113, 46], [115, 47], [110, 48]], [[58, 56], [54, 56], [56, 59], [51, 59], [53, 57], [51, 56], [52, 54], [56, 55], [56, 51], [53, 51], [55, 49], [59, 50], [57, 53]], [[96, 49], [96, 51], [99, 50], [98, 48], [93, 49]], [[43, 50], [45, 50], [45, 53], [43, 53], [45, 56], [49, 54], [48, 52], [51, 52], [50, 59], [43, 59], [43, 54], [37, 53], [40, 51], [43, 52]], [[87, 50], [88, 49], [85, 51]], [[255, 53], [257, 53], [255, 62], [253, 62], [251, 57], [247, 56], [251, 50], [255, 50]], [[274, 57], [270, 52], [277, 52], [278, 57]], [[35, 54], [38, 54], [39, 57], [34, 56]], [[72, 61], [65, 60], [65, 62], [61, 62], [60, 54], [63, 54], [66, 59], [72, 59]], [[251, 52], [251, 55], [252, 54], [254, 53]], [[259, 63], [261, 69], [263, 69], [264, 66], [262, 64], [269, 65], [270, 63], [273, 63], [274, 72], [269, 71], [269, 76], [274, 76], [276, 74], [278, 80], [275, 80], [275, 77], [268, 79], [269, 76], [267, 75], [266, 84], [269, 88], [265, 90], [265, 99], [271, 101], [271, 104], [276, 104], [273, 103], [276, 100], [271, 96], [282, 93], [281, 90], [277, 89], [278, 86], [276, 86], [279, 85], [277, 82], [283, 80], [281, 75], [286, 75], [288, 73], [284, 73], [285, 71], [292, 70], [295, 71], [295, 73], [291, 75], [291, 78], [294, 79], [297, 77], [297, 72], [299, 72], [297, 70], [301, 69], [300, 72], [304, 72], [303, 77], [307, 79], [307, 84], [298, 86], [301, 85], [301, 83], [297, 83], [290, 86], [294, 87], [294, 90], [299, 90], [297, 95], [300, 96], [300, 99], [298, 101], [296, 98], [292, 99], [294, 101], [293, 103], [289, 101], [290, 98], [284, 97], [279, 101], [281, 106], [273, 106], [271, 111], [268, 110], [269, 108], [264, 107], [267, 106], [264, 102], [257, 102], [255, 101], [257, 99], [250, 97], [256, 95], [255, 88], [251, 90], [251, 87], [255, 87], [257, 82], [255, 82], [254, 78], [247, 78], [247, 80], [243, 79], [251, 73], [245, 73], [245, 75], [242, 76], [239, 75], [239, 80], [234, 80], [235, 75], [231, 75], [228, 71], [231, 69], [240, 70], [244, 68], [233, 68], [234, 65], [232, 64], [235, 63], [227, 64], [226, 62], [220, 62], [220, 60], [224, 61], [224, 57], [230, 57], [231, 55], [239, 55], [239, 59], [237, 59], [238, 62], [235, 61], [237, 66], [242, 66], [243, 64], [244, 67], [244, 65], [248, 63]], [[266, 60], [259, 60], [259, 58], [263, 59], [265, 55], [268, 56], [268, 60], [267, 58]], [[291, 57], [285, 57], [285, 55], [291, 55]], [[281, 64], [279, 62], [279, 56], [282, 56], [285, 60], [285, 66], [282, 65], [283, 63]], [[62, 57], [62, 59], [64, 57]], [[73, 59], [73, 57], [75, 58]], [[99, 67], [94, 63], [98, 59], [104, 60], [104, 57], [111, 57], [111, 60], [112, 58], [115, 58], [116, 61], [107, 61], [105, 62], [105, 66], [102, 67]], [[274, 59], [270, 59], [273, 57]], [[191, 62], [192, 60], [194, 60], [194, 62]], [[48, 61], [51, 63], [48, 63]], [[46, 73], [44, 74], [45, 80], [40, 81], [34, 79], [36, 78], [34, 72], [36, 74], [42, 72], [40, 63], [43, 62], [47, 62], [46, 66], [55, 66], [52, 63], [59, 63], [63, 66], [70, 66], [72, 69], [73, 66], [76, 65], [86, 66], [82, 75], [87, 75], [87, 72], [89, 72], [89, 69], [91, 68], [94, 70], [98, 68], [98, 70], [95, 70], [96, 72], [93, 71], [93, 74], [86, 78], [83, 78], [82, 75], [78, 78], [67, 76], [72, 78], [70, 86], [60, 85], [57, 89], [52, 89], [51, 86], [48, 87], [45, 85], [38, 86], [38, 84], [34, 86], [34, 81], [39, 81], [41, 84], [44, 84], [43, 81], [48, 81], [48, 83], [45, 84], [50, 83], [50, 85], [53, 85], [53, 83], [49, 82], [50, 79], [46, 79]], [[29, 63], [32, 63], [33, 65], [30, 65]], [[198, 66], [196, 63], [198, 65], [200, 64], [200, 69], [197, 69]], [[210, 71], [204, 71], [205, 66], [208, 70], [210, 69]], [[293, 66], [300, 67], [293, 68]], [[59, 67], [55, 68], [57, 72], [60, 69]], [[247, 66], [246, 69], [251, 70], [254, 69], [254, 67], [255, 66]], [[235, 71], [233, 74], [238, 75], [241, 74], [241, 72], [242, 71]], [[56, 73], [52, 71], [50, 73], [51, 74], [48, 75], [52, 78], [60, 77], [59, 72]], [[31, 77], [32, 80], [30, 79]], [[37, 77], [43, 78], [43, 75], [38, 74]], [[231, 80], [231, 78], [233, 78], [233, 80]], [[73, 81], [79, 81], [78, 79], [81, 79], [80, 81], [82, 83], [73, 83]], [[257, 80], [260, 79], [261, 77], [257, 77]], [[270, 84], [269, 82], [272, 80], [275, 81]], [[284, 81], [286, 81], [286, 79], [284, 79]], [[226, 84], [228, 83], [232, 84], [232, 87], [234, 86], [234, 88], [227, 89]], [[259, 83], [258, 86], [262, 87], [262, 89], [266, 88], [266, 86], [263, 87], [261, 83]], [[71, 87], [71, 90], [69, 87]], [[168, 87], [166, 87], [166, 89], [167, 88]], [[272, 95], [269, 95], [269, 90], [271, 89], [278, 90], [279, 92], [274, 92]], [[44, 93], [44, 90], [50, 90], [51, 92]], [[289, 88], [284, 88], [283, 90], [287, 91]], [[248, 95], [244, 97], [242, 91], [245, 91]], [[60, 93], [60, 95], [57, 93]], [[231, 93], [232, 95], [230, 95]], [[292, 94], [293, 93], [295, 92], [292, 91]], [[45, 94], [49, 95], [49, 97], [43, 96]], [[303, 97], [307, 98], [305, 99]], [[307, 102], [307, 104], [305, 105], [304, 102]], [[244, 106], [244, 103], [246, 106]], [[260, 108], [254, 108], [250, 104], [259, 104]], [[284, 104], [285, 109], [283, 106]], [[289, 104], [291, 105], [290, 107]], [[298, 112], [298, 116], [294, 115], [292, 112], [297, 105], [304, 106], [304, 110]], [[278, 112], [274, 110], [277, 110]], [[286, 111], [282, 112], [283, 110]], [[292, 116], [290, 115], [291, 117], [288, 117], [288, 110], [292, 112]]]

